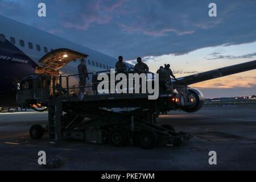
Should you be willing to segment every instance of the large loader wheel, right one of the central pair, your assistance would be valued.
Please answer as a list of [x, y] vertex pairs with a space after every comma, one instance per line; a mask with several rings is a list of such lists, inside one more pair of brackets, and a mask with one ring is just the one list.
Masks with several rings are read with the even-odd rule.
[[141, 130], [136, 140], [141, 148], [151, 149], [158, 143], [158, 134], [152, 130]]

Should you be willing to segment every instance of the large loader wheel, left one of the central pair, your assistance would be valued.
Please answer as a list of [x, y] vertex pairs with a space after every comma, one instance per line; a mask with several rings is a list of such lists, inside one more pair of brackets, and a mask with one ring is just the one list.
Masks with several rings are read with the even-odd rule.
[[127, 133], [123, 129], [113, 129], [109, 134], [109, 143], [115, 147], [122, 147], [127, 143]]

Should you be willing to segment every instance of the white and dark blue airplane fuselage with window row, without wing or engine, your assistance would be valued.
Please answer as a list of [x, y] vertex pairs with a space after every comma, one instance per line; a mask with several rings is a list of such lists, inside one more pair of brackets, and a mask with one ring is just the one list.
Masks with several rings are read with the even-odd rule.
[[[38, 30], [34, 27], [0, 15], [0, 106], [15, 106], [15, 80], [35, 73], [38, 62], [46, 53], [58, 48], [69, 48], [89, 55], [88, 72], [95, 73], [115, 68], [117, 59], [80, 46], [69, 40]], [[73, 61], [61, 72], [77, 74], [79, 61]], [[134, 66], [125, 63], [127, 68]]]

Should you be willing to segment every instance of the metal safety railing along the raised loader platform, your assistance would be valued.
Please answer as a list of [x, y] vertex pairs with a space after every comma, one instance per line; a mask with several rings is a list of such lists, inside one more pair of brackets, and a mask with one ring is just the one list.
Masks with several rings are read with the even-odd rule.
[[[60, 76], [53, 77], [53, 79], [52, 79], [52, 82], [54, 83], [54, 84], [52, 84], [52, 86], [53, 86], [53, 98], [56, 97], [56, 96], [61, 96], [61, 97], [65, 97], [65, 98], [67, 98], [67, 100], [69, 100], [70, 97], [73, 96], [73, 95], [78, 96], [79, 92], [81, 92], [81, 91], [86, 96], [94, 96], [94, 97], [98, 96], [98, 94], [100, 94], [99, 93], [100, 90], [98, 90], [97, 87], [98, 87], [98, 84], [100, 84], [100, 82], [102, 82], [102, 80], [98, 80], [98, 76], [101, 73], [106, 73], [109, 77], [109, 80], [106, 81], [106, 84], [108, 84], [108, 90], [104, 88], [104, 92], [101, 92], [101, 93], [103, 93], [103, 94], [118, 93], [117, 89], [116, 89], [116, 85], [121, 80], [115, 80], [115, 82], [114, 82], [114, 88], [115, 88], [114, 93], [110, 92], [111, 84], [113, 84], [112, 80], [110, 80], [110, 73], [111, 72], [112, 72], [112, 74], [113, 73], [115, 74], [114, 77], [117, 75], [117, 73], [124, 73], [126, 75], [126, 80], [125, 81], [126, 81], [127, 86], [126, 86], [126, 88], [122, 88], [122, 93], [134, 93], [135, 92], [135, 86], [136, 86], [135, 81], [138, 81], [138, 80], [135, 80], [134, 77], [129, 78], [129, 73], [138, 73], [138, 72], [139, 73], [145, 73], [146, 78], [144, 78], [144, 80], [146, 80], [146, 82], [147, 81], [152, 81], [151, 84], [154, 85], [154, 80], [155, 80], [154, 73], [146, 72], [146, 71], [142, 72], [142, 71], [139, 71], [139, 70], [134, 69], [134, 68], [126, 69], [126, 71], [123, 71], [123, 69], [110, 69], [110, 70], [105, 70], [105, 71], [98, 71], [95, 74], [94, 73], [88, 73], [86, 75], [79, 75], [79, 74], [68, 75], [68, 76], [61, 76], [60, 75]], [[86, 85], [74, 84], [74, 80], [79, 81], [79, 77], [81, 77], [81, 76], [85, 76], [85, 77], [88, 76], [89, 77], [89, 81], [86, 82]], [[69, 81], [72, 81], [72, 83], [70, 83]], [[142, 91], [142, 86], [143, 86], [142, 81], [143, 80], [139, 78], [139, 92]], [[131, 83], [133, 83], [132, 87], [130, 86]], [[146, 83], [146, 84], [148, 84], [148, 83]], [[70, 86], [70, 85], [72, 85], [72, 86]], [[130, 89], [133, 89], [132, 90], [133, 92], [129, 92], [129, 91], [131, 91]], [[174, 92], [174, 89], [173, 89], [173, 86], [172, 86], [171, 82], [170, 82], [170, 84], [168, 84], [166, 92], [168, 92], [168, 93]], [[147, 86], [146, 86], [146, 93], [148, 93]]]

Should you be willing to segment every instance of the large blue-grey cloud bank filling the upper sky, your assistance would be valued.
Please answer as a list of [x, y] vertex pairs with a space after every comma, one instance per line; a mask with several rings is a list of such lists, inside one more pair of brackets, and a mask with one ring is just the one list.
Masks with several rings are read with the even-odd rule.
[[46, 18], [40, 2], [0, 0], [1, 14], [127, 60], [256, 41], [255, 0], [216, 0], [213, 18], [209, 0], [45, 0]]

